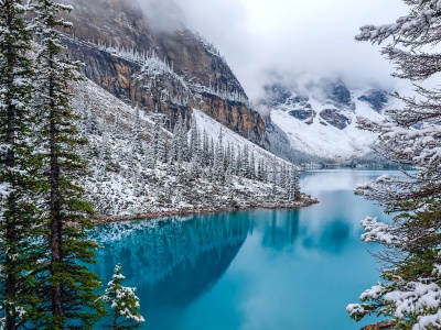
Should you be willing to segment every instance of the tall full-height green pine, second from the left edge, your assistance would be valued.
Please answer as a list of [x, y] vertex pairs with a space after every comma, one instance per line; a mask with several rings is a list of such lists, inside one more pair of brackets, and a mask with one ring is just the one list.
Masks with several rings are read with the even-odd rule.
[[71, 108], [72, 81], [78, 80], [78, 66], [63, 54], [64, 45], [56, 31], [71, 28], [57, 18], [71, 6], [40, 0], [33, 3], [33, 25], [40, 42], [37, 53], [39, 92], [43, 136], [46, 150], [49, 193], [47, 267], [41, 274], [44, 317], [36, 327], [50, 329], [92, 329], [99, 318], [101, 306], [96, 289], [99, 278], [87, 270], [95, 262], [98, 245], [88, 239], [92, 207], [83, 198], [84, 190], [75, 184], [85, 168], [79, 150], [86, 141], [78, 139], [78, 118]]

